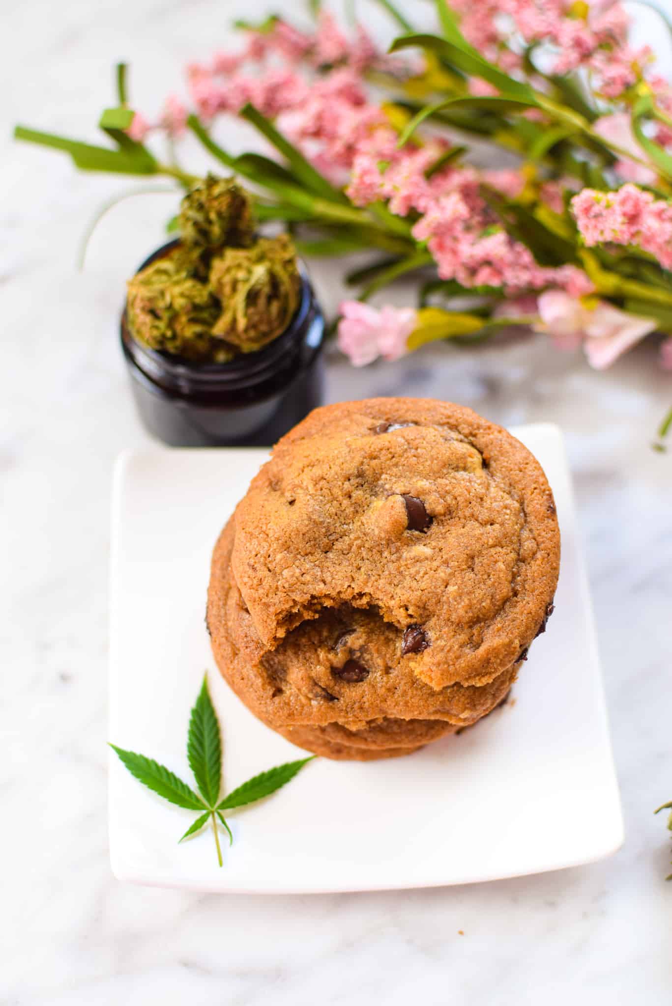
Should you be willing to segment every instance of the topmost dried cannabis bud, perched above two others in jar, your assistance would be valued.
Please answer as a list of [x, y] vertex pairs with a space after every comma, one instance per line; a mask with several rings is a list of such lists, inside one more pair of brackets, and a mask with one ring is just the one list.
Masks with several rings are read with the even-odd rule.
[[179, 230], [182, 242], [198, 252], [248, 247], [254, 239], [250, 197], [232, 179], [208, 175], [182, 199]]

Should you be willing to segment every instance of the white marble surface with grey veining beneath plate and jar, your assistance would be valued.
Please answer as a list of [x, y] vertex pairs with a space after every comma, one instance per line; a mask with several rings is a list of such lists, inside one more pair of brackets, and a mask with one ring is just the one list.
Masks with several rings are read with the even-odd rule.
[[[235, 13], [264, 6], [66, 0], [57, 17], [46, 0], [7, 6], [6, 122], [93, 138], [120, 56], [151, 113], [182, 61], [208, 54], [218, 34], [226, 44]], [[108, 511], [116, 454], [147, 438], [115, 329], [124, 278], [160, 240], [173, 199], [113, 209], [78, 274], [83, 231], [128, 181], [78, 175], [63, 157], [12, 145], [6, 130], [2, 142], [0, 1002], [669, 1003], [670, 843], [652, 810], [672, 796], [672, 456], [649, 445], [672, 382], [654, 349], [606, 374], [542, 338], [427, 348], [361, 371], [333, 356], [327, 379], [332, 401], [435, 395], [503, 424], [551, 420], [564, 430], [624, 848], [578, 869], [416, 892], [225, 897], [124, 886], [107, 850]], [[332, 265], [314, 270], [329, 304], [335, 275]], [[403, 841], [402, 819], [400, 804], [392, 842]]]

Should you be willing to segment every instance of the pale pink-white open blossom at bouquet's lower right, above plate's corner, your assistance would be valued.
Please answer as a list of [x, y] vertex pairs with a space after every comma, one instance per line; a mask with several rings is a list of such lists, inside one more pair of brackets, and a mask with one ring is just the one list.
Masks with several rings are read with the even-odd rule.
[[620, 311], [607, 301], [585, 305], [562, 291], [542, 294], [538, 307], [541, 322], [536, 330], [548, 332], [562, 348], [582, 342], [588, 363], [596, 370], [611, 366], [656, 329], [651, 318]]

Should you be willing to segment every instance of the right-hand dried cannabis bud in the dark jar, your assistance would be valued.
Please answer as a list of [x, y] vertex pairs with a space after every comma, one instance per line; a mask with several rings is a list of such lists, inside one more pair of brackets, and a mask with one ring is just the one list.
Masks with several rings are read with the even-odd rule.
[[301, 276], [289, 237], [260, 237], [251, 248], [226, 248], [213, 260], [210, 286], [223, 312], [213, 335], [244, 353], [277, 338], [301, 297]]

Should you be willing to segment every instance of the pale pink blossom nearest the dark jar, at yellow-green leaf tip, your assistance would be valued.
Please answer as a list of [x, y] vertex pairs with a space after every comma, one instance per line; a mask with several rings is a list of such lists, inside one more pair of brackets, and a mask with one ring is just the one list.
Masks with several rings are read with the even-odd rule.
[[339, 322], [339, 348], [356, 367], [379, 356], [396, 360], [408, 352], [407, 340], [415, 327], [412, 308], [386, 305], [380, 311], [360, 301], [344, 301]]

